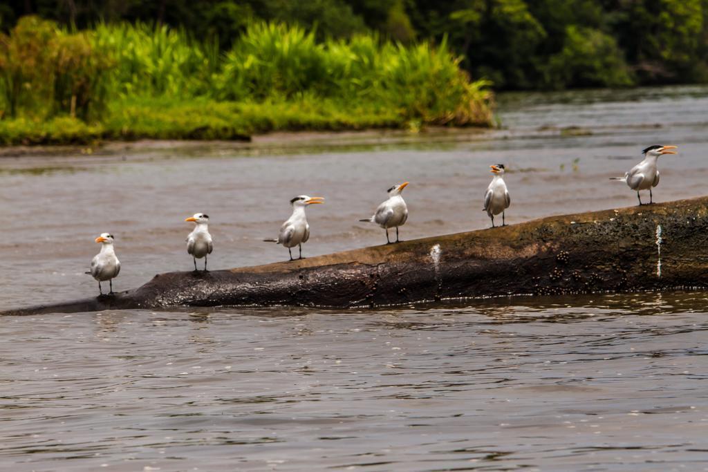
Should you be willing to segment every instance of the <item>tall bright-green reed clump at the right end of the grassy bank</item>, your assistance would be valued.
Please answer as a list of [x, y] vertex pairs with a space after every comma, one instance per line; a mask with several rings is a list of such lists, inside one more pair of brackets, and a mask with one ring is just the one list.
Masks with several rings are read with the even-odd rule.
[[447, 41], [402, 45], [374, 35], [317, 43], [297, 26], [258, 23], [224, 58], [217, 96], [289, 100], [302, 93], [342, 106], [393, 108], [401, 120], [489, 125], [488, 81], [472, 82]]

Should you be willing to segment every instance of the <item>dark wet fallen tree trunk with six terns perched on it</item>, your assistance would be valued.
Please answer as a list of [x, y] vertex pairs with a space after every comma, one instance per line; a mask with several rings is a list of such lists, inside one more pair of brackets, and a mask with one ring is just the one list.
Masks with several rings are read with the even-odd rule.
[[547, 217], [319, 257], [169, 272], [138, 289], [3, 314], [169, 306], [360, 307], [708, 285], [708, 197]]

